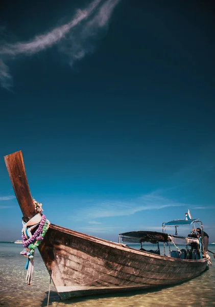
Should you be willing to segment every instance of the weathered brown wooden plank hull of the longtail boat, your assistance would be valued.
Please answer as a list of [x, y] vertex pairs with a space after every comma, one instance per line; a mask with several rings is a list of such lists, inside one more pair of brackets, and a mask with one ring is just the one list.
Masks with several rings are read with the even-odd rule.
[[62, 299], [179, 283], [207, 266], [207, 259], [155, 255], [56, 225], [39, 251]]

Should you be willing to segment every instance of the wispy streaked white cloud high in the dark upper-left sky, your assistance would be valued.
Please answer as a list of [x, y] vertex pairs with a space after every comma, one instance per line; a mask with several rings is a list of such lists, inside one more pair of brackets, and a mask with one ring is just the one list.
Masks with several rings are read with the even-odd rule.
[[95, 39], [106, 29], [113, 9], [120, 0], [94, 0], [65, 25], [37, 35], [27, 42], [3, 43], [0, 46], [0, 81], [10, 89], [12, 77], [6, 62], [19, 55], [32, 55], [58, 44], [59, 51], [66, 54], [69, 63], [82, 59], [94, 50]]

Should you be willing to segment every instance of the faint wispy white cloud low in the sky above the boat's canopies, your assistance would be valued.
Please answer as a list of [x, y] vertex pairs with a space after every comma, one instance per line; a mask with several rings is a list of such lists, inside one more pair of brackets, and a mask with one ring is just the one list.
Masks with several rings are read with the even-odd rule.
[[126, 216], [144, 210], [158, 210], [165, 207], [189, 206], [188, 204], [176, 202], [159, 195], [157, 192], [142, 195], [129, 202], [103, 201], [76, 213], [76, 218], [92, 220], [95, 218]]

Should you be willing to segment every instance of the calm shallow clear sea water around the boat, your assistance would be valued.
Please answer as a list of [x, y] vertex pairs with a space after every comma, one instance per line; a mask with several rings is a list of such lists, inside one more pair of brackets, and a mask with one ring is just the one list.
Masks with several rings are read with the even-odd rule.
[[[215, 245], [208, 249], [215, 253]], [[33, 284], [25, 283], [26, 257], [19, 253], [21, 244], [0, 243], [0, 305], [10, 307], [47, 306], [50, 276], [38, 251], [35, 253]], [[215, 306], [215, 259], [209, 253], [212, 266], [199, 277], [154, 291], [97, 295], [61, 301], [51, 283], [49, 306], [53, 307], [148, 307], [148, 306]]]

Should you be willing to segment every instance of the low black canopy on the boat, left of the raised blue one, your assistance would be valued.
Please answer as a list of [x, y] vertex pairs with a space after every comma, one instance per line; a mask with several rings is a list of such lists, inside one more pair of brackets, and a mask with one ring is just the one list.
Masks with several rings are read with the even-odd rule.
[[142, 243], [149, 242], [156, 244], [158, 242], [172, 242], [173, 244], [189, 244], [196, 243], [199, 244], [199, 239], [189, 238], [183, 236], [177, 236], [173, 234], [158, 232], [158, 231], [129, 231], [120, 233], [119, 236], [122, 238], [122, 243]]

